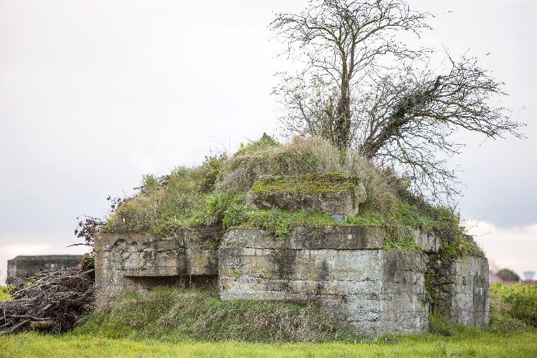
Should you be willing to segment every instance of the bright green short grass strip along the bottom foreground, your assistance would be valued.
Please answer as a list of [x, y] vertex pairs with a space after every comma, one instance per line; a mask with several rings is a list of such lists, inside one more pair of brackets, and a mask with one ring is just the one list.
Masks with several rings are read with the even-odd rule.
[[387, 341], [261, 344], [162, 343], [35, 333], [0, 338], [0, 357], [537, 357], [537, 334], [499, 336], [460, 328], [454, 336], [392, 336]]

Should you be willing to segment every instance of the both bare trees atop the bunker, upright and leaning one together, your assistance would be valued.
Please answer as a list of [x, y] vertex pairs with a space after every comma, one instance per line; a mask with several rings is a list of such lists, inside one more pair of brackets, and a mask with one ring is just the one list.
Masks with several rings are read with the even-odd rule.
[[274, 93], [290, 132], [356, 148], [438, 199], [454, 193], [454, 173], [445, 167], [461, 146], [454, 131], [520, 137], [523, 124], [489, 104], [505, 94], [503, 83], [475, 58], [447, 55], [438, 71], [428, 62], [431, 50], [397, 40], [430, 29], [428, 16], [401, 0], [312, 0], [300, 14], [277, 14], [271, 27], [301, 69], [282, 73]]

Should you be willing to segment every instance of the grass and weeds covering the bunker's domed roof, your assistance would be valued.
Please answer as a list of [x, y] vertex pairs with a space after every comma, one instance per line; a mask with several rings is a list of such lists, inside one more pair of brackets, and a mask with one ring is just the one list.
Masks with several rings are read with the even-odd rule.
[[[245, 206], [250, 190], [340, 192], [357, 180], [364, 182], [367, 200], [358, 215], [342, 220], [323, 213]], [[206, 157], [199, 167], [178, 168], [162, 178], [145, 176], [140, 193], [122, 201], [103, 229], [165, 235], [187, 227], [226, 230], [248, 225], [284, 238], [299, 225], [336, 224], [383, 226], [388, 232], [384, 248], [390, 250], [419, 250], [414, 230], [421, 229], [443, 238], [446, 257], [477, 252], [473, 241], [464, 240], [452, 210], [413, 195], [408, 182], [392, 171], [378, 170], [352, 150], [342, 154], [320, 138], [297, 137], [282, 145], [266, 134], [241, 145], [234, 155]]]

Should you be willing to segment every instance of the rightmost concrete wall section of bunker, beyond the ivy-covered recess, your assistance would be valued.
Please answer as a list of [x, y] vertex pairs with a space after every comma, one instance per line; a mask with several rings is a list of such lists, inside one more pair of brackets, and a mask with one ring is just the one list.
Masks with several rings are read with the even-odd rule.
[[489, 264], [485, 257], [464, 257], [451, 266], [450, 284], [439, 307], [455, 324], [489, 325]]

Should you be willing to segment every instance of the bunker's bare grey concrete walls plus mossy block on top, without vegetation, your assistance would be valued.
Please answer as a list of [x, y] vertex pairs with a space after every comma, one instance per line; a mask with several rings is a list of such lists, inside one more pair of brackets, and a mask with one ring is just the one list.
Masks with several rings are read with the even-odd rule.
[[[355, 178], [337, 178], [335, 186], [322, 176], [315, 185], [294, 185], [303, 178], [260, 180], [246, 203], [355, 215], [364, 187]], [[323, 180], [330, 190], [319, 189]], [[285, 238], [243, 225], [217, 241], [200, 229], [168, 236], [103, 232], [95, 245], [96, 285], [104, 292], [215, 285], [222, 300], [315, 303], [368, 336], [425, 332], [433, 311], [457, 324], [487, 327], [487, 259], [470, 253], [447, 262], [439, 254], [441, 238], [420, 229], [410, 234], [412, 250], [389, 250], [391, 234], [381, 224], [304, 224]]]

